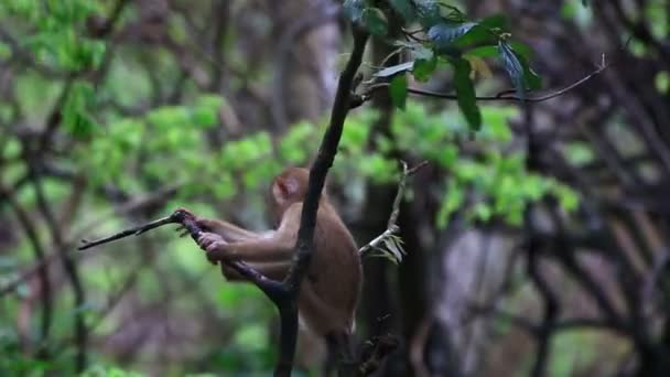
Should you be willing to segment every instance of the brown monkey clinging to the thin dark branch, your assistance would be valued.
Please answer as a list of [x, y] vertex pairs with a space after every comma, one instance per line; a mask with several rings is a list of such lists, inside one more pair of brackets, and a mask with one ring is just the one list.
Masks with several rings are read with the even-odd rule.
[[[300, 168], [289, 168], [274, 179], [270, 196], [279, 224], [275, 230], [257, 234], [227, 222], [195, 217], [206, 230], [197, 243], [207, 251], [207, 258], [213, 262], [241, 260], [269, 278], [283, 279], [292, 263], [307, 179], [309, 171]], [[363, 271], [354, 238], [325, 192], [316, 215], [314, 246], [299, 297], [300, 316], [321, 336], [348, 338]], [[244, 280], [225, 263], [221, 272], [228, 280]]]

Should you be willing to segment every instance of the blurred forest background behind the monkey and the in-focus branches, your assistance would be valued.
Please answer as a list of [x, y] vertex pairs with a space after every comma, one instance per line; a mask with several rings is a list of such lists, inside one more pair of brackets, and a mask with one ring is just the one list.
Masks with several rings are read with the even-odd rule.
[[[386, 229], [399, 160], [429, 161], [403, 262], [365, 261], [357, 340], [401, 341], [378, 375], [670, 375], [670, 3], [442, 3], [505, 15], [545, 91], [613, 65], [549, 101], [482, 101], [475, 133], [453, 100], [350, 112], [328, 192], [359, 245]], [[267, 229], [269, 182], [327, 123], [350, 51], [338, 6], [0, 2], [0, 375], [272, 370], [274, 308], [191, 239], [75, 249], [179, 206]], [[500, 62], [469, 62], [477, 94], [509, 88]], [[440, 68], [410, 86], [454, 89]], [[303, 334], [299, 373], [323, 357]]]

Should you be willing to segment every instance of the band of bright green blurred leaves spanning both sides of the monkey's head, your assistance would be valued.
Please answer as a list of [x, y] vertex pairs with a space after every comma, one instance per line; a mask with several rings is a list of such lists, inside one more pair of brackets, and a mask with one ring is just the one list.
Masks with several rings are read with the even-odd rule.
[[[138, 186], [138, 182], [144, 182], [138, 177], [149, 176], [160, 185], [176, 180], [187, 182], [182, 195], [212, 193], [217, 200], [226, 201], [240, 191], [246, 195], [264, 195], [266, 183], [282, 166], [307, 162], [311, 154], [304, 146], [316, 144], [323, 131], [302, 122], [278, 140], [260, 131], [228, 141], [220, 149], [207, 150], [203, 130], [212, 125], [205, 121], [199, 123], [202, 127], [193, 127], [198, 123], [193, 122], [192, 117], [198, 111], [206, 112], [205, 109], [215, 111], [221, 103], [212, 96], [206, 99], [196, 101], [204, 106], [196, 106], [196, 110], [159, 108], [141, 119], [121, 119], [105, 130], [105, 137], [94, 139], [91, 147], [97, 152], [82, 161], [91, 174], [100, 172], [96, 176], [100, 184], [111, 181], [120, 182], [121, 186], [134, 184], [130, 188], [141, 192], [147, 187]], [[346, 121], [334, 180], [350, 183], [360, 177], [360, 182], [393, 183], [398, 179], [398, 161], [386, 155], [399, 150], [417, 160], [425, 159], [446, 173], [436, 187], [442, 192], [435, 219], [440, 227], [456, 212], [473, 220], [501, 219], [520, 225], [526, 205], [547, 195], [556, 197], [565, 211], [575, 209], [579, 200], [573, 190], [553, 177], [528, 172], [523, 153], [511, 148], [508, 122], [517, 112], [515, 107], [483, 107], [484, 127], [477, 139], [471, 140], [467, 121], [457, 112], [431, 114], [424, 105], [408, 101], [406, 110], [393, 118], [390, 138], [378, 136], [374, 140], [376, 151], [370, 152], [370, 125], [378, 115], [374, 110], [358, 110]], [[194, 154], [198, 148], [203, 153]], [[575, 164], [590, 161], [588, 155], [584, 155], [587, 150], [572, 149], [568, 152], [576, 159]], [[142, 155], [145, 159], [138, 163]], [[129, 175], [133, 171], [131, 165], [139, 169], [137, 175]], [[197, 172], [197, 182], [190, 182], [194, 172]], [[205, 187], [202, 182], [212, 184]]]

